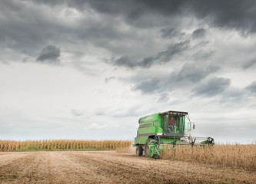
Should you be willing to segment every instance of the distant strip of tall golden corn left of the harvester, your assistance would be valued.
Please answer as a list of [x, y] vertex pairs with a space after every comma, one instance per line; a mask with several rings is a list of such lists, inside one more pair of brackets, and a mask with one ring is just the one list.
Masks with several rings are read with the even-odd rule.
[[116, 149], [131, 145], [129, 140], [0, 140], [0, 151], [37, 151], [65, 149]]

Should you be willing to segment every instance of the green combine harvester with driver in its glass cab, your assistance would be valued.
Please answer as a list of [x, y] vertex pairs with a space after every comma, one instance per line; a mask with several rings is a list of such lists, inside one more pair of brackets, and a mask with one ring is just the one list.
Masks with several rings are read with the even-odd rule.
[[[188, 123], [185, 122], [188, 120]], [[160, 151], [168, 146], [176, 145], [205, 146], [214, 145], [214, 139], [211, 137], [191, 136], [191, 129], [194, 129], [194, 123], [190, 121], [187, 112], [167, 111], [164, 113], [155, 113], [138, 120], [139, 126], [135, 143], [137, 146], [136, 155], [151, 158], [159, 158]], [[196, 140], [201, 142], [196, 143]]]

